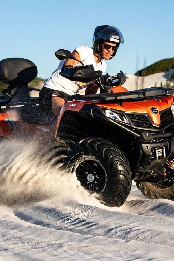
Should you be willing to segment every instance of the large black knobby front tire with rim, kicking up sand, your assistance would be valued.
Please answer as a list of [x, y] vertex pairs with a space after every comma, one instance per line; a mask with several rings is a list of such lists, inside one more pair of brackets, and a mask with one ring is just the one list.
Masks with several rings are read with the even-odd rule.
[[124, 153], [115, 144], [91, 137], [72, 146], [67, 156], [64, 164], [76, 172], [82, 186], [97, 193], [103, 204], [122, 206], [131, 190], [132, 173]]

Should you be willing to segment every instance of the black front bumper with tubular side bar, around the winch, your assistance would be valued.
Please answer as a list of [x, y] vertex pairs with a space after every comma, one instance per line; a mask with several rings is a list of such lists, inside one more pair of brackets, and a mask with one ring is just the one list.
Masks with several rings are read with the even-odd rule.
[[[91, 118], [99, 118], [108, 124], [111, 124], [121, 131], [128, 133], [131, 138], [131, 145], [127, 146], [124, 151], [128, 158], [131, 168], [134, 172], [151, 172], [152, 170], [162, 166], [171, 152], [174, 150], [174, 125], [167, 126], [168, 132], [151, 133], [148, 130], [133, 129], [131, 126], [114, 121], [104, 115], [99, 106], [87, 104], [80, 110], [81, 113], [87, 113]], [[155, 130], [156, 131], [156, 130]], [[158, 131], [161, 131], [159, 129]], [[130, 136], [130, 137], [131, 137]], [[163, 139], [162, 142], [155, 142], [155, 139]], [[158, 159], [151, 159], [151, 151], [153, 148], [165, 147], [165, 156]]]

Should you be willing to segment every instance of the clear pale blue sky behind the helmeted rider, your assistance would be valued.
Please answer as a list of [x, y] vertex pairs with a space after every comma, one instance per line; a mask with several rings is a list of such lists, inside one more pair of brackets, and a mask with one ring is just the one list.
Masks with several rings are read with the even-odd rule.
[[124, 44], [112, 61], [110, 75], [127, 74], [164, 58], [174, 57], [174, 1], [1, 1], [0, 60], [22, 57], [33, 61], [38, 77], [48, 78], [59, 61], [59, 48], [72, 51], [80, 45], [92, 46], [96, 26], [116, 26]]

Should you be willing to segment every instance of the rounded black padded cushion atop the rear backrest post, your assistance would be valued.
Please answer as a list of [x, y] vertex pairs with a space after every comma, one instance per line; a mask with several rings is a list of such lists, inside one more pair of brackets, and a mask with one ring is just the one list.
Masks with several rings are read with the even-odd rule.
[[7, 58], [0, 61], [0, 80], [6, 84], [28, 83], [37, 76], [35, 64], [23, 58]]

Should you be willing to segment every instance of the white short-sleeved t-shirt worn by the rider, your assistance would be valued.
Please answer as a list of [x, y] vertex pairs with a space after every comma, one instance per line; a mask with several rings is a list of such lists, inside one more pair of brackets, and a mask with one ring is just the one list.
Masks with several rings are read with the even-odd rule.
[[[93, 55], [93, 48], [90, 48], [86, 45], [79, 46], [75, 48], [73, 51], [77, 51], [80, 55], [81, 61], [84, 65], [90, 65], [93, 64], [95, 71], [102, 71], [103, 74], [106, 71], [106, 63], [104, 60], [96, 64], [95, 58]], [[70, 81], [66, 79], [65, 77], [60, 75], [61, 68], [64, 64], [65, 60], [62, 60], [59, 63], [59, 67], [52, 73], [50, 78], [48, 78], [45, 83], [44, 87], [61, 91], [64, 93], [67, 93], [68, 95], [74, 95], [79, 92], [80, 89], [85, 88], [86, 84], [83, 84], [81, 82], [77, 81]], [[81, 63], [76, 64], [75, 66], [81, 66]], [[74, 67], [75, 67], [74, 66]]]

